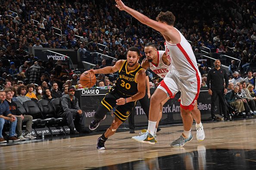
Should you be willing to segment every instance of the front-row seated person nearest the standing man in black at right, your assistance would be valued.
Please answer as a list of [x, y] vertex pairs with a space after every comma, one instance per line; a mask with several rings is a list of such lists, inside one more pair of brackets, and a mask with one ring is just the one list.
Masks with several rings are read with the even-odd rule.
[[237, 109], [239, 113], [242, 113], [245, 111], [244, 102], [246, 102], [246, 100], [237, 95], [238, 91], [239, 91], [239, 86], [235, 85], [234, 90], [230, 90], [227, 92], [227, 94], [225, 95], [225, 99], [230, 104], [230, 106]]

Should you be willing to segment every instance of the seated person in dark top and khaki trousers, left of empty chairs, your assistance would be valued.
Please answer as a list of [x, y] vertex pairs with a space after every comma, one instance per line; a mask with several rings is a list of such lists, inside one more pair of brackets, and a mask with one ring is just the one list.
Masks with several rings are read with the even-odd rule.
[[[18, 139], [26, 140], [26, 139], [37, 138], [37, 137], [33, 137], [31, 135], [33, 117], [31, 115], [24, 115], [24, 113], [22, 113], [18, 109], [16, 109], [17, 105], [12, 100], [12, 91], [10, 89], [6, 89], [5, 92], [6, 92], [6, 101], [9, 104], [10, 112], [17, 119], [16, 133], [18, 135]], [[22, 136], [22, 122], [26, 122], [26, 131], [25, 131], [24, 137]]]

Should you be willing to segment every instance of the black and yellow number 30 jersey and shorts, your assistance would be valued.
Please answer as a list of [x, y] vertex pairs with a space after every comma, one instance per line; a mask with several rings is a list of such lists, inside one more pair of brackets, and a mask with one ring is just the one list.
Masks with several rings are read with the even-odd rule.
[[[128, 98], [133, 96], [138, 92], [137, 81], [135, 80], [137, 73], [142, 70], [140, 64], [134, 70], [127, 70], [127, 60], [122, 64], [119, 69], [119, 77], [117, 79], [116, 85], [113, 86], [106, 96], [101, 101], [100, 106], [106, 107], [109, 111], [116, 106], [116, 100], [119, 98]], [[136, 101], [126, 103], [124, 105], [119, 105], [114, 114], [124, 122], [131, 113], [132, 108], [135, 106]]]

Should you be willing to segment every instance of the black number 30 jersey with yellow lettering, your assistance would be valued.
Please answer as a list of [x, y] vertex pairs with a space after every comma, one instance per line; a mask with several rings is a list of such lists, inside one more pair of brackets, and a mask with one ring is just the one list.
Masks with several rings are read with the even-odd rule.
[[137, 82], [135, 77], [137, 73], [143, 68], [138, 65], [137, 68], [131, 71], [127, 71], [127, 60], [122, 64], [122, 67], [119, 69], [119, 77], [116, 82], [116, 90], [123, 95], [133, 96], [138, 92]]

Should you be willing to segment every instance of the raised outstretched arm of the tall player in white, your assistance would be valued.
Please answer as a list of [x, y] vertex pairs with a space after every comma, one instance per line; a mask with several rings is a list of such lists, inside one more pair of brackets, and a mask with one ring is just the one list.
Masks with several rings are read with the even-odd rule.
[[174, 29], [172, 26], [169, 26], [167, 24], [163, 24], [148, 18], [147, 16], [141, 14], [140, 12], [137, 12], [134, 9], [131, 9], [128, 6], [125, 6], [125, 4], [121, 0], [116, 0], [116, 7], [119, 8], [120, 10], [124, 10], [125, 12], [128, 12], [141, 23], [152, 27], [153, 29], [169, 36], [172, 39], [171, 31], [172, 29]]

